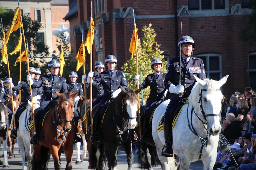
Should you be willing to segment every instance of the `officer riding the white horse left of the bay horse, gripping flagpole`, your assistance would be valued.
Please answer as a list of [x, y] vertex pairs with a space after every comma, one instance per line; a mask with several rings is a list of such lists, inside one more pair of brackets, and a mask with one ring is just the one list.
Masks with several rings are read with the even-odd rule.
[[[31, 75], [32, 80], [34, 81], [34, 76], [36, 74], [36, 69], [34, 67], [29, 67], [29, 73]], [[26, 70], [26, 75], [28, 75], [28, 70]], [[8, 78], [11, 79], [11, 78]], [[9, 82], [10, 80], [8, 80]], [[11, 80], [12, 81], [12, 80]], [[11, 86], [13, 86], [12, 82], [10, 82]], [[13, 86], [12, 90], [14, 91], [19, 91], [22, 90], [24, 93], [24, 96], [22, 98], [22, 101], [20, 103], [19, 108], [17, 109], [16, 113], [15, 113], [15, 123], [16, 123], [16, 128], [12, 130], [12, 133], [10, 135], [11, 138], [16, 139], [17, 137], [17, 129], [18, 129], [18, 117], [19, 114], [22, 113], [22, 111], [24, 111], [24, 109], [26, 108], [26, 106], [28, 105], [28, 100], [31, 101], [31, 93], [30, 93], [30, 87], [29, 87], [29, 83], [27, 82], [27, 80], [22, 80], [18, 85]], [[42, 97], [42, 87], [40, 88], [35, 88], [32, 89], [32, 96], [33, 96], [33, 101], [35, 100], [39, 100]]]

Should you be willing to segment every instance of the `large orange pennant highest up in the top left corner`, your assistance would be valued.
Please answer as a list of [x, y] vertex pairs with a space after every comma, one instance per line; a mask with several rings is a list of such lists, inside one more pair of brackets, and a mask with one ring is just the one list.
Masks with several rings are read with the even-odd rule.
[[21, 24], [21, 13], [20, 13], [20, 7], [17, 7], [16, 8], [16, 11], [14, 13], [14, 17], [12, 19], [12, 25], [11, 25], [11, 28], [10, 30], [6, 33], [6, 44], [8, 43], [9, 41], [9, 38], [10, 38], [10, 34], [13, 32], [13, 31], [16, 31], [18, 30], [18, 28], [20, 28], [22, 26]]

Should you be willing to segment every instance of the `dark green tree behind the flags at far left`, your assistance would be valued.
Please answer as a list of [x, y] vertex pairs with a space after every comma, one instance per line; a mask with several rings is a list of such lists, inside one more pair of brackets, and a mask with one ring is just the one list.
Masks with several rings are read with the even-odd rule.
[[[12, 22], [14, 16], [13, 10], [7, 10], [3, 7], [0, 7], [0, 17], [3, 20], [3, 25], [1, 25], [1, 28], [3, 26], [4, 32], [6, 33], [10, 29], [10, 25]], [[29, 49], [29, 66], [40, 68], [42, 71], [42, 74], [46, 72], [45, 69], [43, 69], [43, 66], [45, 63], [45, 56], [49, 55], [48, 46], [46, 46], [44, 43], [39, 41], [39, 38], [37, 37], [38, 30], [41, 27], [41, 23], [35, 20], [31, 20], [30, 14], [25, 14], [22, 16], [23, 21], [23, 28], [25, 32], [25, 38], [28, 41], [28, 49]], [[0, 30], [1, 36], [3, 35], [3, 30]], [[14, 66], [14, 63], [16, 59], [19, 57], [19, 53], [9, 55], [14, 49], [15, 46], [18, 43], [18, 38], [20, 37], [20, 30], [14, 31], [10, 34], [9, 42], [7, 43], [7, 52], [8, 52], [8, 59], [9, 59], [9, 66], [10, 66], [10, 74], [12, 77], [12, 80], [14, 82], [14, 85], [19, 81], [19, 75], [20, 75], [20, 69], [19, 69], [19, 63], [17, 63], [17, 66]], [[0, 42], [2, 46], [2, 41]], [[25, 50], [24, 47], [24, 41], [22, 39], [22, 52]], [[2, 50], [2, 48], [1, 48]], [[2, 53], [1, 53], [2, 54]], [[1, 56], [2, 58], [2, 56]], [[36, 58], [39, 62], [36, 61]], [[21, 80], [26, 79], [26, 70], [27, 70], [27, 62], [21, 62]], [[4, 64], [3, 60], [0, 60], [0, 79], [4, 80], [6, 77], [8, 77], [8, 69], [7, 65]]]

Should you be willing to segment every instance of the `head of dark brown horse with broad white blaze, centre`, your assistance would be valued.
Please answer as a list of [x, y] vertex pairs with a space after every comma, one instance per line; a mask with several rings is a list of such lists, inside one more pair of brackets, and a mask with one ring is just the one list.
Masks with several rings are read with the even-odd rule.
[[[115, 105], [120, 106], [124, 116], [128, 121], [128, 126], [130, 129], [134, 129], [137, 125], [136, 117], [138, 111], [138, 93], [140, 93], [140, 89], [133, 91], [132, 89], [126, 88], [124, 89], [120, 86], [121, 92], [115, 98]], [[119, 112], [120, 113], [120, 112]]]

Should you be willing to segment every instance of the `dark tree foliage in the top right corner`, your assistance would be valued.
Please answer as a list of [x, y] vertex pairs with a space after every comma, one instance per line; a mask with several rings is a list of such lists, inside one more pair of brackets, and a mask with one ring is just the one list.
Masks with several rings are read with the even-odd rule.
[[250, 1], [250, 9], [252, 13], [249, 14], [246, 24], [239, 30], [239, 40], [246, 44], [255, 44], [256, 39], [256, 1]]

